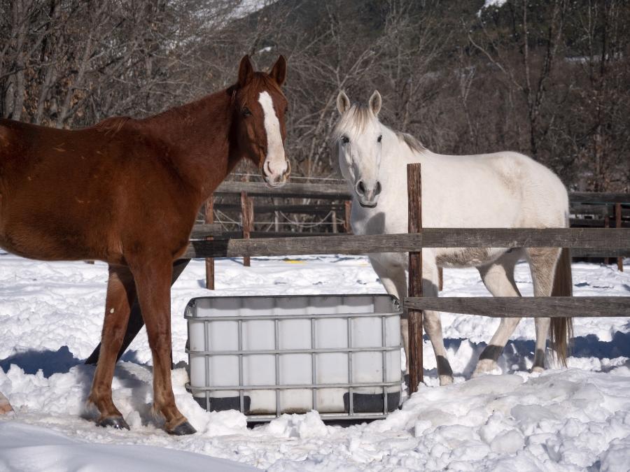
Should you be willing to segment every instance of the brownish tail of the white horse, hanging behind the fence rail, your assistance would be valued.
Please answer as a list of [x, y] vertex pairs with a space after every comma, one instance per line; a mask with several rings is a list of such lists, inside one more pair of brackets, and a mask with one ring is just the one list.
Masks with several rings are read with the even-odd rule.
[[[554, 287], [552, 296], [573, 296], [573, 281], [571, 280], [570, 250], [563, 248], [556, 264]], [[549, 338], [563, 366], [566, 366], [569, 339], [573, 336], [573, 320], [570, 317], [554, 317], [549, 327]]]

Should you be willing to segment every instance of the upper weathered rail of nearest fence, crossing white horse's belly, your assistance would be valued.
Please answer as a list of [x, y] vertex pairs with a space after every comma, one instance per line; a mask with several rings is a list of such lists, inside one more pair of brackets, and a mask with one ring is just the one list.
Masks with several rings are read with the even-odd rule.
[[421, 248], [580, 248], [630, 250], [627, 228], [426, 228], [415, 234], [192, 241], [182, 257], [359, 255]]

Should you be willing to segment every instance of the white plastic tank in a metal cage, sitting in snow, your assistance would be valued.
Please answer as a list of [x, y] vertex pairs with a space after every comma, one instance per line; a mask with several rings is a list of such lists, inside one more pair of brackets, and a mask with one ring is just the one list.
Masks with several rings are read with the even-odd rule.
[[[386, 294], [193, 299], [185, 313], [190, 373], [186, 387], [203, 408], [236, 409], [247, 416], [248, 422], [269, 421], [283, 413], [306, 413], [311, 409], [321, 410], [324, 420], [385, 417], [400, 403], [401, 315], [398, 300]], [[262, 339], [248, 342], [257, 322]], [[293, 328], [288, 329], [291, 323]], [[379, 329], [375, 329], [377, 326]], [[327, 331], [326, 336], [322, 336], [322, 329]], [[219, 332], [222, 330], [223, 334]], [[301, 338], [304, 343], [287, 348], [292, 341], [286, 336]], [[328, 341], [322, 341], [322, 337]], [[337, 345], [331, 347], [330, 339], [335, 337]], [[265, 343], [264, 348], [252, 346]], [[288, 362], [292, 355], [293, 364], [299, 359], [302, 368], [308, 364], [310, 381], [287, 381], [293, 376]], [[331, 364], [335, 355], [337, 361]], [[325, 356], [330, 357], [328, 362], [322, 362]], [[346, 357], [346, 366], [339, 365], [342, 357]], [[379, 362], [375, 362], [377, 358]], [[258, 364], [262, 371], [267, 364], [268, 372], [263, 377], [272, 377], [272, 382], [252, 381], [252, 369], [246, 369], [248, 363]], [[213, 369], [213, 365], [219, 367]], [[303, 370], [296, 371], [298, 377], [303, 377]], [[346, 378], [341, 381], [343, 371]], [[365, 378], [368, 381], [358, 381]], [[286, 399], [292, 396], [287, 392], [293, 392], [293, 403]], [[260, 406], [265, 404], [262, 397], [267, 399], [264, 408]], [[302, 399], [301, 403], [297, 398]]]

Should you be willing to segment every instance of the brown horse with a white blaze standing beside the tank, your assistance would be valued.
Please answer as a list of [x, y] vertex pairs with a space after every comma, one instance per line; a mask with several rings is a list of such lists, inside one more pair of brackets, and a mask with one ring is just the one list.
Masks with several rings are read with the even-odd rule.
[[285, 76], [284, 57], [267, 74], [245, 56], [232, 87], [145, 120], [113, 117], [76, 131], [0, 120], [0, 247], [31, 259], [109, 264], [88, 399], [99, 425], [129, 429], [111, 382], [138, 296], [153, 353], [153, 409], [167, 432], [195, 432], [171, 385], [172, 264], [200, 206], [242, 157], [269, 185], [286, 181]]

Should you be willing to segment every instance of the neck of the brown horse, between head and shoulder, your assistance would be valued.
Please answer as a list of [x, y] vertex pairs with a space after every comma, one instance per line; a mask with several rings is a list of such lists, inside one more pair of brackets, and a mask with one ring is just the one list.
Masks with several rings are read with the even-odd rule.
[[231, 97], [225, 90], [144, 120], [197, 199], [206, 200], [239, 157], [230, 145]]

